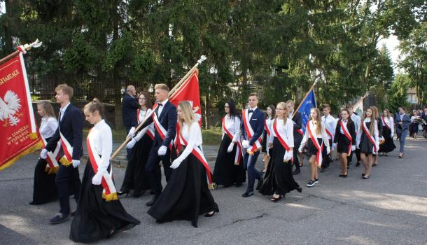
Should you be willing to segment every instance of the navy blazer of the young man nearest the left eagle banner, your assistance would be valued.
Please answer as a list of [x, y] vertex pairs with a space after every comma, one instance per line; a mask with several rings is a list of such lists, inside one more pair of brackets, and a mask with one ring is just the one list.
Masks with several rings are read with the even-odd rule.
[[[60, 119], [58, 118], [58, 120]], [[46, 150], [55, 151], [57, 142], [60, 139], [59, 130], [61, 130], [62, 135], [64, 135], [65, 139], [73, 147], [73, 160], [80, 160], [83, 155], [83, 116], [80, 109], [69, 104], [64, 112], [64, 116], [62, 116], [62, 120], [59, 121], [59, 127], [52, 138], [50, 138]]]

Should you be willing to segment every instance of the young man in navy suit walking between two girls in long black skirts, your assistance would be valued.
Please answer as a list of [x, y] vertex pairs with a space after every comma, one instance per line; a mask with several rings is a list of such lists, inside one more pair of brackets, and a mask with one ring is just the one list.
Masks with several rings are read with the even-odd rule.
[[244, 147], [244, 167], [248, 171], [248, 188], [242, 197], [253, 195], [255, 179], [261, 179], [261, 172], [255, 169], [256, 160], [260, 155], [262, 132], [264, 132], [264, 113], [258, 109], [258, 95], [249, 94], [249, 108], [243, 111], [241, 118], [241, 145]]

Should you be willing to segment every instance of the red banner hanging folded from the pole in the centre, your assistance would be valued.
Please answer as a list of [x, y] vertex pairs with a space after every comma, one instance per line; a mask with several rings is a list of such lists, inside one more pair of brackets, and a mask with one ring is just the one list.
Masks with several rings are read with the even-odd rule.
[[[197, 117], [202, 118], [202, 108], [200, 106], [200, 90], [199, 90], [199, 71], [196, 69], [193, 74], [188, 76], [187, 80], [179, 87], [178, 90], [169, 98], [169, 101], [178, 106], [178, 103], [186, 100], [190, 102], [193, 107], [193, 111]], [[202, 120], [199, 121], [200, 127], [202, 127]]]

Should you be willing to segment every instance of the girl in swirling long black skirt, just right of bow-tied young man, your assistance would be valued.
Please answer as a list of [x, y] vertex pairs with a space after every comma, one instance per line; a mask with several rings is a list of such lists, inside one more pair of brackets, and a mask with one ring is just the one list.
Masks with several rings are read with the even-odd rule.
[[277, 202], [292, 190], [302, 191], [292, 174], [293, 122], [288, 118], [286, 103], [277, 104], [276, 119], [271, 129], [268, 147], [273, 149], [272, 159], [257, 189], [262, 195], [272, 195], [270, 200]]

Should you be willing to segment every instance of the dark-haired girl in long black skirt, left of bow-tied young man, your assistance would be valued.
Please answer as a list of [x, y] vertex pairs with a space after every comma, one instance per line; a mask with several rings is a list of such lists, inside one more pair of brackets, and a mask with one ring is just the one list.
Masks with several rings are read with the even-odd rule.
[[246, 174], [243, 167], [240, 144], [240, 118], [235, 103], [225, 103], [224, 110], [227, 115], [223, 118], [223, 137], [216, 156], [214, 168], [214, 188], [218, 185], [224, 187], [241, 186]]

